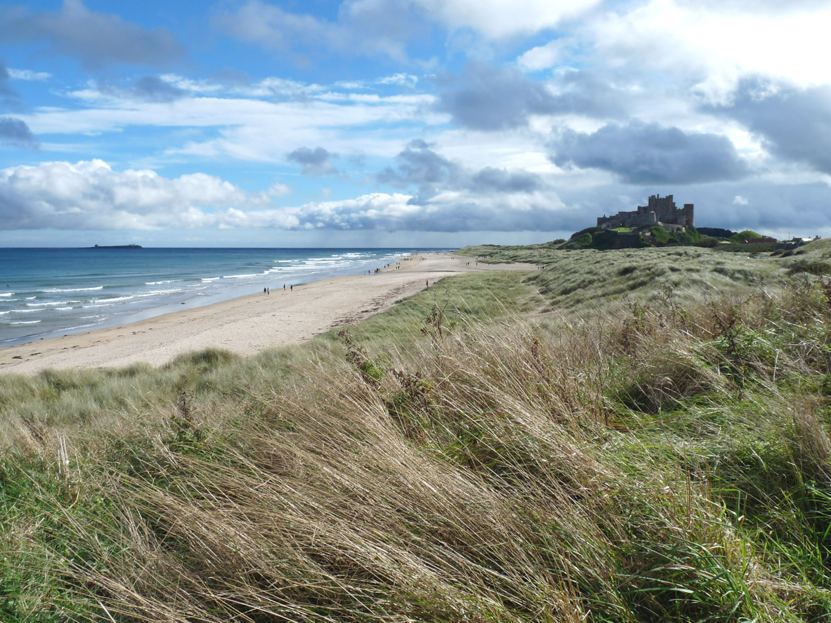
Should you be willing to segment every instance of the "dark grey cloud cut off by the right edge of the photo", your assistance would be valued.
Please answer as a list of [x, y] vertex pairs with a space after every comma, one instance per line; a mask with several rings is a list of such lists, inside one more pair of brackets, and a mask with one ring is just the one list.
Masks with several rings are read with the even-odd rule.
[[773, 155], [831, 174], [831, 86], [799, 90], [745, 80], [732, 106], [709, 110], [744, 123]]

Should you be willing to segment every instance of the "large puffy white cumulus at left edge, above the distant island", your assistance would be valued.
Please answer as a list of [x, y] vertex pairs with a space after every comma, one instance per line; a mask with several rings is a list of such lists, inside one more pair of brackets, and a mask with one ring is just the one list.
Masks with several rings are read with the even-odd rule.
[[3, 229], [207, 227], [223, 218], [206, 208], [265, 200], [207, 174], [166, 179], [150, 170], [114, 171], [101, 160], [0, 170]]

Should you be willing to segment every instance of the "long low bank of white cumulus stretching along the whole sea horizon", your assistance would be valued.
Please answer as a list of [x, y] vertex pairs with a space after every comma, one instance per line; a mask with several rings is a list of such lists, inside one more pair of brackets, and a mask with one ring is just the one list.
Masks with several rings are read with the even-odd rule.
[[[0, 170], [0, 229], [280, 228], [426, 232], [553, 231], [571, 223], [556, 194], [536, 189], [533, 176], [482, 169], [480, 184], [442, 189], [429, 204], [410, 194], [372, 193], [355, 199], [274, 208], [288, 192], [275, 184], [248, 194], [207, 174], [166, 179], [151, 170], [115, 171], [101, 160], [49, 162]], [[490, 189], [520, 192], [494, 193]]]

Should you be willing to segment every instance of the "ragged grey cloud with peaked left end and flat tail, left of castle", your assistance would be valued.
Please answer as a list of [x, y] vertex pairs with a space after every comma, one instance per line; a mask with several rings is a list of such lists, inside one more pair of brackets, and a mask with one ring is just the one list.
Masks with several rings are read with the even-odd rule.
[[376, 176], [380, 184], [405, 189], [416, 186], [411, 204], [424, 205], [443, 189], [472, 193], [533, 193], [542, 189], [537, 174], [524, 170], [485, 167], [473, 172], [436, 154], [424, 140], [416, 139], [396, 156], [396, 168], [386, 167]]

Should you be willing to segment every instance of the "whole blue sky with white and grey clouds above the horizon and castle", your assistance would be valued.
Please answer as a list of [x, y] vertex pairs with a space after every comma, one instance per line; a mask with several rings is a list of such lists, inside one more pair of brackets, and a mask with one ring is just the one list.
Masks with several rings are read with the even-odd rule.
[[0, 0], [0, 247], [831, 235], [831, 0]]

